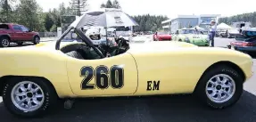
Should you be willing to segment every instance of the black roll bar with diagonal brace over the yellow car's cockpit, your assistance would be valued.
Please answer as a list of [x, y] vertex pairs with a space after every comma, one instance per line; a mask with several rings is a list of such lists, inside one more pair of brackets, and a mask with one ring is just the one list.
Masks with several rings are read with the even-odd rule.
[[[68, 28], [62, 35], [62, 37], [60, 37], [55, 45], [55, 49], [56, 50], [60, 50], [60, 45], [62, 42], [62, 38], [65, 37], [71, 30], [72, 28]], [[92, 47], [95, 50], [95, 53], [99, 54], [101, 56], [101, 58], [105, 58], [105, 56], [103, 55], [103, 53], [95, 47], [95, 45], [93, 44], [93, 42], [91, 41], [91, 39], [89, 39], [86, 35], [84, 35], [83, 31], [79, 28], [74, 28], [75, 32], [77, 33], [78, 37], [81, 38], [81, 40], [86, 43], [88, 46]]]

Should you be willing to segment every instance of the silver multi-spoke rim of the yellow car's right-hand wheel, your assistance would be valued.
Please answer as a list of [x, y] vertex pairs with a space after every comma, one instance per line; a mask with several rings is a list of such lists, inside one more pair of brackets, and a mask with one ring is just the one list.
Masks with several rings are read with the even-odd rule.
[[235, 80], [225, 74], [216, 75], [207, 82], [205, 92], [212, 102], [227, 102], [235, 94]]

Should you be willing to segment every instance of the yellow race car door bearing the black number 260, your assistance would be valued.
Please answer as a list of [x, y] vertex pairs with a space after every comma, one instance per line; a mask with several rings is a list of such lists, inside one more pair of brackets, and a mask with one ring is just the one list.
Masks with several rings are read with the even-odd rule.
[[136, 61], [130, 53], [100, 60], [69, 57], [67, 70], [71, 89], [79, 96], [126, 95], [136, 92]]

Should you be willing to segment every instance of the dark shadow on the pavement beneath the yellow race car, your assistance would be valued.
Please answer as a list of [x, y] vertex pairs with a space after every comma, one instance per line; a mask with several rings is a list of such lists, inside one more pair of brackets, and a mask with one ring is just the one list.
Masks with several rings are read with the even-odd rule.
[[89, 98], [75, 102], [72, 110], [58, 110], [44, 118], [16, 118], [0, 103], [1, 122], [255, 122], [256, 96], [244, 91], [226, 110], [212, 110], [192, 95]]

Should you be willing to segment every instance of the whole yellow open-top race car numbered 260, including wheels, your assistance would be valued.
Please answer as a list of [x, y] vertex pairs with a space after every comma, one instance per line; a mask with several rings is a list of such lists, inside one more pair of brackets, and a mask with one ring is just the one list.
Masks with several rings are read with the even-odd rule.
[[[14, 115], [35, 117], [59, 98], [196, 94], [223, 109], [238, 101], [252, 77], [251, 56], [182, 42], [95, 46], [79, 28], [83, 43], [0, 49], [0, 91]], [[110, 53], [111, 52], [111, 53]]]

